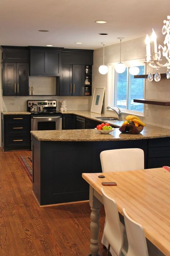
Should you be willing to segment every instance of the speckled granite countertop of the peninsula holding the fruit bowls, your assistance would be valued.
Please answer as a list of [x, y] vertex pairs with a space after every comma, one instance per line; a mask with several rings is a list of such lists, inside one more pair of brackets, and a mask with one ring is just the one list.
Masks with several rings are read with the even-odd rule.
[[31, 131], [31, 134], [41, 141], [114, 141], [170, 137], [170, 129], [147, 125], [140, 134], [121, 133], [118, 128], [109, 134], [95, 129]]

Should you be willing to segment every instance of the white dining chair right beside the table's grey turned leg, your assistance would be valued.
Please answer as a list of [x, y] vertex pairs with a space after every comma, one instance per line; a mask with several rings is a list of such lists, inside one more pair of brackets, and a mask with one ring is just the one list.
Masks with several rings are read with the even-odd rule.
[[104, 235], [109, 242], [107, 256], [109, 255], [110, 246], [114, 252], [113, 255], [121, 255], [123, 252], [126, 255], [127, 252], [127, 237], [124, 225], [119, 219], [118, 209], [116, 202], [110, 198], [101, 188], [104, 209], [106, 214], [106, 223], [104, 226]]

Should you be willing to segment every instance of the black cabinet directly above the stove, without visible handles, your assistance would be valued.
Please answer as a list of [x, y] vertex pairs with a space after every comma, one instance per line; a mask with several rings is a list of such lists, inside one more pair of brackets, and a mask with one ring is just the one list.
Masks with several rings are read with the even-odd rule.
[[30, 47], [30, 76], [60, 76], [61, 49]]

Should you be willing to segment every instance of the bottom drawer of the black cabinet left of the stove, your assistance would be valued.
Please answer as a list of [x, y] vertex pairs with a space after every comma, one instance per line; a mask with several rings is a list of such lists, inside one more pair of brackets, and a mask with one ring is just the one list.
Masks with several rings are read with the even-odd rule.
[[30, 135], [9, 135], [5, 138], [6, 148], [19, 149], [26, 147], [29, 149]]

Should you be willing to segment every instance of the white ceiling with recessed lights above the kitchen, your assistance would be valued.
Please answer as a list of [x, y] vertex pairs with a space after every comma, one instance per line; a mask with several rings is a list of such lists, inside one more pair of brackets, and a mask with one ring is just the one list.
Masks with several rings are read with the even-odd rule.
[[169, 0], [1, 0], [0, 45], [98, 49], [161, 32], [169, 9]]

